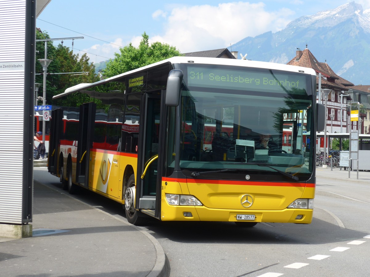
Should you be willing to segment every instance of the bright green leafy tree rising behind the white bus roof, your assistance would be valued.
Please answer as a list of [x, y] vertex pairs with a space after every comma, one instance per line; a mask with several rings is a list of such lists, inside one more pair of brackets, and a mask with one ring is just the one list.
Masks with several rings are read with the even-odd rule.
[[129, 45], [120, 48], [120, 53], [115, 53], [115, 58], [107, 63], [103, 70], [104, 78], [109, 78], [145, 65], [159, 62], [167, 58], [181, 56], [176, 47], [161, 42], [149, 45], [149, 36], [144, 32], [139, 47]]

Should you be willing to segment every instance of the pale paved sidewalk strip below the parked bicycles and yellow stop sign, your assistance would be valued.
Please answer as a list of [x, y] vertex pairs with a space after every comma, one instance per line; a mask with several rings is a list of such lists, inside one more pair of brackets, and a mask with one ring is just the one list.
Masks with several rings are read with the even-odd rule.
[[[348, 178], [348, 174], [350, 174], [350, 178]], [[330, 167], [316, 167], [316, 177], [364, 182], [370, 185], [370, 171], [359, 171], [359, 179], [357, 179], [357, 171], [348, 172], [343, 168], [339, 170], [339, 167], [333, 168], [333, 170]]]

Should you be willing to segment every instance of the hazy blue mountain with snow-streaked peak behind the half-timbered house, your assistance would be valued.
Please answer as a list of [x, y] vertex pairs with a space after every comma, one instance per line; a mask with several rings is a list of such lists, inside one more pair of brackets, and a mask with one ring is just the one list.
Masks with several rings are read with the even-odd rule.
[[246, 37], [232, 49], [256, 61], [286, 64], [297, 48], [308, 44], [319, 62], [327, 62], [337, 75], [351, 83], [370, 83], [370, 9], [355, 2], [332, 10], [302, 16], [276, 33]]

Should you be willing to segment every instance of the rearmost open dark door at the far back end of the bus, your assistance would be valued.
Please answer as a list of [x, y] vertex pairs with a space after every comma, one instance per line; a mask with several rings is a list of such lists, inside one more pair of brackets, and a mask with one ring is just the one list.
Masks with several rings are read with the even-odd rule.
[[60, 148], [60, 137], [63, 131], [63, 110], [55, 109], [51, 111], [50, 139], [48, 150], [48, 171], [53, 174], [58, 172], [58, 158]]

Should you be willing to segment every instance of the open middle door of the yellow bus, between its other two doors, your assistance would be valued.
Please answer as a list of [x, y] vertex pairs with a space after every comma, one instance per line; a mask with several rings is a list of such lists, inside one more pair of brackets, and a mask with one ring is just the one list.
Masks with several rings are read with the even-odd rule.
[[88, 172], [90, 148], [92, 147], [92, 136], [95, 124], [95, 103], [84, 103], [80, 106], [79, 126], [76, 161], [76, 182], [88, 187]]

